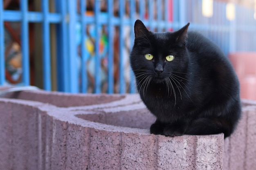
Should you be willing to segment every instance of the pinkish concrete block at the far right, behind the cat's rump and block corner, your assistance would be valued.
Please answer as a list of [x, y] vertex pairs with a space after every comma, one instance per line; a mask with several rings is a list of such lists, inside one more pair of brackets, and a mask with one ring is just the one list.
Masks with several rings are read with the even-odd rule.
[[234, 133], [224, 141], [224, 170], [254, 170], [256, 164], [256, 107], [245, 100], [242, 118]]

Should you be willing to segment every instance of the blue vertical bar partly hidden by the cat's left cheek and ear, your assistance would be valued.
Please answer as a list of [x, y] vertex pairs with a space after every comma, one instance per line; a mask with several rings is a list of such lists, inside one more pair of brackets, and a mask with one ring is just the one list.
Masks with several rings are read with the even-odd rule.
[[[135, 0], [130, 0], [130, 51], [132, 51], [132, 46], [134, 43], [134, 23], [136, 19], [136, 4]], [[136, 92], [136, 86], [135, 86], [135, 76], [134, 73], [132, 72], [132, 69], [129, 68], [130, 71], [130, 93], [135, 93]]]

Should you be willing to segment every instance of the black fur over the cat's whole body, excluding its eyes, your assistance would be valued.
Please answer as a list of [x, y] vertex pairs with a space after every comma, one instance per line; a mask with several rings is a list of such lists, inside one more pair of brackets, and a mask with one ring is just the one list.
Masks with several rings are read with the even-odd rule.
[[135, 22], [130, 64], [141, 99], [157, 117], [150, 132], [228, 137], [241, 115], [238, 78], [218, 46], [188, 27], [153, 33]]

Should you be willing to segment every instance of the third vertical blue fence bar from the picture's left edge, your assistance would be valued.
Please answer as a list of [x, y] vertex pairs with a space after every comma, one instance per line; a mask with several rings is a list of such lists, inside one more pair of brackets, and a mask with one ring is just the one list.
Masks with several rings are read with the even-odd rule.
[[49, 30], [49, 15], [48, 15], [48, 0], [41, 1], [43, 11], [43, 29], [42, 29], [42, 40], [43, 40], [43, 85], [46, 91], [50, 91], [51, 88], [51, 60], [50, 60], [50, 30]]

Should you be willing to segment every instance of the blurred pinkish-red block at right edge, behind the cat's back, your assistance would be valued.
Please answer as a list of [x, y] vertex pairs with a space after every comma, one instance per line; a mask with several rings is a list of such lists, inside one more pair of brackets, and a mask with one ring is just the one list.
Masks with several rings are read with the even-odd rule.
[[256, 100], [256, 52], [229, 53], [240, 82], [240, 97]]

